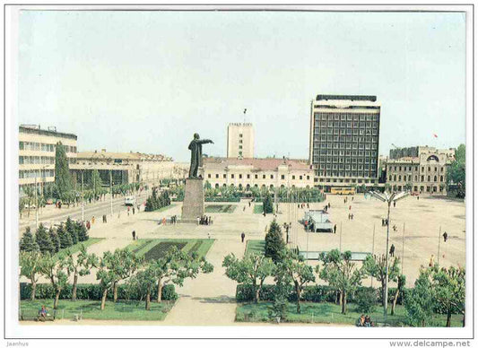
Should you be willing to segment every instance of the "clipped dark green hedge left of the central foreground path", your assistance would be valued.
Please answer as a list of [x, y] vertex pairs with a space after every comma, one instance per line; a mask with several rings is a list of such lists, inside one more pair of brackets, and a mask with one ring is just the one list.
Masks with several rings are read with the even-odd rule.
[[[71, 300], [72, 298], [73, 285], [67, 284], [65, 288], [60, 292], [60, 300]], [[173, 284], [167, 284], [162, 287], [162, 300], [177, 300], [178, 293]], [[31, 284], [30, 283], [20, 283], [20, 299], [21, 300], [30, 300], [31, 295]], [[78, 284], [76, 288], [76, 299], [78, 300], [101, 300], [102, 291], [100, 284]], [[35, 298], [39, 300], [43, 299], [54, 299], [55, 290], [53, 285], [49, 283], [40, 283], [37, 284], [37, 291], [35, 293]], [[119, 284], [117, 286], [117, 298], [118, 300], [140, 300], [141, 295], [137, 291], [129, 291], [128, 287], [125, 284]], [[113, 291], [108, 291], [108, 300], [113, 300]], [[157, 299], [156, 291], [152, 292], [152, 299]], [[144, 300], [141, 299], [141, 300]]]

